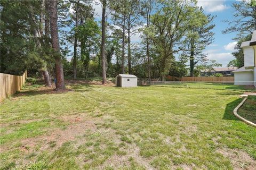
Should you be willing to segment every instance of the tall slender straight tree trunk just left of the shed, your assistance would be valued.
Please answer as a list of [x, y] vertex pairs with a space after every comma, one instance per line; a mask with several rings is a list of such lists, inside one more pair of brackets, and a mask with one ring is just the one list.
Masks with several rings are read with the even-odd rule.
[[102, 20], [101, 20], [101, 64], [102, 64], [102, 84], [106, 84], [106, 54], [105, 54], [105, 20], [106, 20], [106, 0], [103, 0]]

